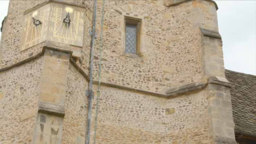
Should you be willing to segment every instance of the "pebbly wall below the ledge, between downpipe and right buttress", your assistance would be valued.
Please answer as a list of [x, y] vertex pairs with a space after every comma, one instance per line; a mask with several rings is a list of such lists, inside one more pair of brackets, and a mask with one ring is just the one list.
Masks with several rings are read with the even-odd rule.
[[205, 91], [167, 99], [104, 86], [99, 105], [97, 143], [212, 142]]

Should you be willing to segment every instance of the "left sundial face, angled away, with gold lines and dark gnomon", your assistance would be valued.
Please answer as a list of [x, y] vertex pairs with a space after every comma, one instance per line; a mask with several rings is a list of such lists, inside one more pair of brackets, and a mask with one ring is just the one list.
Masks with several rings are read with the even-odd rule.
[[46, 39], [50, 8], [42, 7], [25, 15], [21, 50], [41, 43]]

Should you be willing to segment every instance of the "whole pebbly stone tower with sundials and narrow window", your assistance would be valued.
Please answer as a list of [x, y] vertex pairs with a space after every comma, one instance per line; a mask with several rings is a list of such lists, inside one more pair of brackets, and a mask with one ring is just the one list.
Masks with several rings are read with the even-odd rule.
[[211, 0], [10, 1], [0, 143], [236, 143], [217, 9]]

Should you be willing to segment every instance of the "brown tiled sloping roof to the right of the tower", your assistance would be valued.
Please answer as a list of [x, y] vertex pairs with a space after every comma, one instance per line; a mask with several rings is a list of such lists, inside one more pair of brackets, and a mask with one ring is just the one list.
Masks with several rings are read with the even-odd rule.
[[235, 131], [256, 135], [256, 76], [225, 70], [230, 88]]

